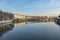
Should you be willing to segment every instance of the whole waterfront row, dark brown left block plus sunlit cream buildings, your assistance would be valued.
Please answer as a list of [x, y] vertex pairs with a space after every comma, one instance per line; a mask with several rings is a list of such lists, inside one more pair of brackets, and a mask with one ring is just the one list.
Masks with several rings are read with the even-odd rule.
[[40, 21], [40, 22], [54, 21], [53, 16], [28, 16], [28, 15], [12, 14], [0, 11], [0, 21], [12, 20], [12, 19], [19, 19], [23, 21]]

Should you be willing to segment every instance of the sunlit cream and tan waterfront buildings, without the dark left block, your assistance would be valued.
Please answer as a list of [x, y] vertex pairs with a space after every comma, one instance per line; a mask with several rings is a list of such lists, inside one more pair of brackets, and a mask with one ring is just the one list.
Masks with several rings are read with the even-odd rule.
[[28, 15], [19, 15], [19, 14], [14, 14], [15, 19], [23, 19], [27, 21], [40, 21], [40, 22], [53, 22], [54, 17], [53, 16], [28, 16]]

